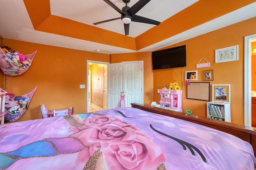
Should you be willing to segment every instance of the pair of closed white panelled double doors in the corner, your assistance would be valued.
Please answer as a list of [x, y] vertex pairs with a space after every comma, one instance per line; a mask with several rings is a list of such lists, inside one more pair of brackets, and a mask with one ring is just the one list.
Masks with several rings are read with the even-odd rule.
[[108, 109], [120, 107], [121, 92], [125, 91], [126, 107], [143, 104], [142, 62], [108, 64]]

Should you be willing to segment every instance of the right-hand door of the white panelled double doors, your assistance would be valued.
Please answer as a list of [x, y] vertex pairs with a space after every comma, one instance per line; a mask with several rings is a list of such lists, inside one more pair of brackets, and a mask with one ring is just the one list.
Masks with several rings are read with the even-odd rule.
[[142, 103], [142, 63], [125, 64], [125, 103], [131, 107], [131, 103]]

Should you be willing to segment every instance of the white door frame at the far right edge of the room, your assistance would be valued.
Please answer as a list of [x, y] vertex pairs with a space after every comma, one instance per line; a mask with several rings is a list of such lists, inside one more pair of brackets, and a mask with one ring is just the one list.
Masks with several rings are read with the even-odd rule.
[[252, 126], [252, 41], [256, 34], [244, 37], [244, 125]]

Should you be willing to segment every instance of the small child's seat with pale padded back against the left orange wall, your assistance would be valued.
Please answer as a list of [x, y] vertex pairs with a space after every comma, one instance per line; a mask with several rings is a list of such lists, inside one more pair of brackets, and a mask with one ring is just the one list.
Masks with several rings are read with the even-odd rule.
[[74, 113], [74, 107], [71, 107], [71, 109], [64, 108], [64, 109], [48, 110], [48, 108], [44, 104], [42, 104], [41, 113], [42, 113], [42, 118], [72, 115]]

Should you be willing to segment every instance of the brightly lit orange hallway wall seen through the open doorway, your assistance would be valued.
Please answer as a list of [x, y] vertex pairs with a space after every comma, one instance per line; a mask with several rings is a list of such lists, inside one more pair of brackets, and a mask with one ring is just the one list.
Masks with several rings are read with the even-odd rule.
[[91, 65], [91, 78], [92, 78], [92, 98], [91, 103], [103, 108], [103, 73], [104, 64], [92, 64]]

